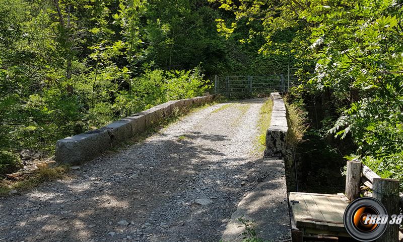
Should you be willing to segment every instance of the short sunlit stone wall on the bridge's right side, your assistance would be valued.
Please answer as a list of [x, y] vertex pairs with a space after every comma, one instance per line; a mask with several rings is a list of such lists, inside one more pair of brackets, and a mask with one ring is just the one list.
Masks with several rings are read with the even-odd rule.
[[264, 156], [285, 157], [288, 132], [286, 105], [278, 92], [270, 93], [273, 101], [272, 120], [266, 132]]

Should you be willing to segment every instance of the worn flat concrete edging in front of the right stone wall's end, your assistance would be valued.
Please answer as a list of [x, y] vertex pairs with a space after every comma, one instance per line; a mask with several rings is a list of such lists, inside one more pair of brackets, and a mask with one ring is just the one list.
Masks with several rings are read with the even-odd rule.
[[290, 239], [290, 217], [287, 204], [287, 192], [284, 177], [284, 162], [265, 159], [259, 168], [264, 174], [259, 182], [242, 201], [232, 215], [223, 239], [238, 241], [243, 228], [238, 218], [254, 221], [257, 236], [266, 241], [283, 241]]

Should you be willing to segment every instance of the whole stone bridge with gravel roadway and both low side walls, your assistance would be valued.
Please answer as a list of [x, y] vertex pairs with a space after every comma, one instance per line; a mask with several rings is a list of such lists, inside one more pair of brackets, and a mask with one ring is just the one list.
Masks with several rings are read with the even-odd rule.
[[170, 101], [58, 141], [56, 161], [74, 169], [0, 197], [0, 240], [240, 241], [240, 217], [264, 239], [289, 240], [286, 109], [278, 93], [271, 98], [270, 157], [255, 151], [265, 98], [204, 105], [138, 142], [125, 141], [214, 97]]

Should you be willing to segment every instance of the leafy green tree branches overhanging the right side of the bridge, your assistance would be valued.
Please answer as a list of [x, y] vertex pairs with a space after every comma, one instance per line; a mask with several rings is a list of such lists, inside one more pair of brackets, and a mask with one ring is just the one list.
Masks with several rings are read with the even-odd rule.
[[[218, 20], [218, 31], [230, 38], [242, 20], [251, 26], [245, 40], [265, 37], [262, 53], [286, 52], [303, 85], [301, 97], [332, 96], [329, 127], [335, 137], [352, 138], [356, 155], [381, 174], [402, 178], [403, 28], [401, 3], [360, 1], [214, 1], [232, 11], [233, 24]], [[258, 30], [258, 25], [262, 31]], [[255, 30], [255, 31], [253, 31]], [[279, 45], [279, 32], [295, 30]], [[274, 49], [273, 49], [274, 48]], [[309, 80], [309, 81], [307, 81]], [[329, 119], [334, 120], [334, 119]], [[320, 120], [317, 120], [320, 122]], [[366, 159], [365, 157], [371, 157]], [[403, 180], [402, 180], [403, 181]]]

